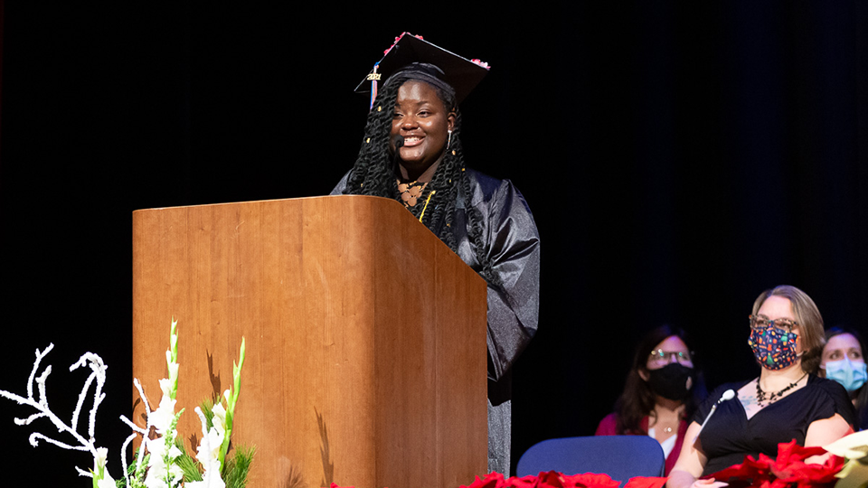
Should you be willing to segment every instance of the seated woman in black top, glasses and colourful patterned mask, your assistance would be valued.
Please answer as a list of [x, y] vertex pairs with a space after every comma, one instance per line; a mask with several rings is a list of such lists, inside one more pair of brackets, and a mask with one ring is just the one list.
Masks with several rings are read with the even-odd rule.
[[[795, 286], [762, 292], [753, 304], [748, 338], [760, 376], [723, 385], [696, 411], [667, 487], [725, 486], [727, 480], [710, 475], [742, 463], [746, 455], [775, 457], [778, 444], [793, 439], [800, 446], [826, 446], [852, 432], [854, 411], [846, 390], [816, 376], [824, 343], [823, 317], [805, 292]], [[728, 389], [734, 399], [723, 399]]]

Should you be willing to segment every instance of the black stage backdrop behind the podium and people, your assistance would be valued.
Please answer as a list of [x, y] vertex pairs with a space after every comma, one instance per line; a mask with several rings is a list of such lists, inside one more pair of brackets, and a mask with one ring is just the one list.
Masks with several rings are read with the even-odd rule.
[[[131, 211], [329, 192], [361, 142], [353, 89], [402, 31], [492, 66], [463, 106], [467, 161], [513, 180], [542, 235], [514, 460], [592, 434], [658, 324], [693, 333], [712, 387], [757, 373], [765, 288], [868, 324], [868, 2], [374, 5], [6, 3], [0, 389], [23, 392], [53, 342], [49, 398], [71, 412], [84, 373], [67, 367], [99, 353], [118, 475]], [[13, 423], [29, 414], [0, 403], [6, 459], [86, 485], [89, 456], [33, 449]]]

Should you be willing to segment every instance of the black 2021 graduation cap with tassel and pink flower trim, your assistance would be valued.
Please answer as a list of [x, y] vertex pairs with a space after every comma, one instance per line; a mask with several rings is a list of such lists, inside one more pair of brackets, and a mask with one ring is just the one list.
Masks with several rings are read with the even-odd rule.
[[380, 62], [355, 88], [356, 93], [371, 92], [371, 103], [376, 98], [378, 82], [388, 80], [393, 73], [413, 62], [427, 62], [443, 71], [443, 81], [455, 89], [456, 103], [467, 97], [488, 73], [488, 65], [479, 60], [468, 60], [453, 52], [425, 41], [421, 36], [402, 33], [395, 38]]

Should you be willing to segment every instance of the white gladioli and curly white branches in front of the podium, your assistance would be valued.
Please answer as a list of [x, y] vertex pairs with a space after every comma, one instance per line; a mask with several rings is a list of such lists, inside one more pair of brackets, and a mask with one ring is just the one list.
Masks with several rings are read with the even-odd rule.
[[[245, 342], [241, 339], [241, 353], [237, 364], [233, 363], [233, 384], [227, 389], [222, 399], [212, 403], [196, 407], [195, 412], [202, 422], [202, 440], [197, 448], [197, 454], [193, 456], [184, 452], [184, 446], [178, 438], [176, 430], [178, 419], [184, 413], [182, 408], [175, 412], [175, 403], [178, 390], [178, 333], [177, 322], [172, 321], [169, 330], [169, 349], [165, 352], [168, 378], [160, 380], [160, 389], [163, 396], [156, 410], [151, 410], [144, 389], [138, 380], [133, 384], [138, 390], [145, 404], [146, 427], [138, 427], [126, 417], [121, 420], [133, 430], [121, 447], [121, 464], [124, 475], [115, 481], [106, 465], [109, 450], [106, 447], [97, 446], [94, 439], [94, 425], [100, 403], [106, 398], [102, 389], [106, 382], [106, 370], [108, 367], [99, 355], [86, 352], [70, 367], [75, 371], [81, 367], [90, 367], [90, 376], [81, 388], [78, 403], [72, 412], [69, 424], [63, 422], [48, 405], [45, 394], [45, 381], [52, 372], [51, 365], [46, 366], [42, 373], [40, 370], [42, 359], [52, 351], [54, 344], [49, 344], [44, 351], [36, 350], [36, 360], [33, 361], [33, 369], [27, 381], [26, 397], [16, 395], [9, 391], [0, 390], [0, 396], [12, 399], [21, 405], [33, 407], [36, 413], [28, 418], [15, 418], [18, 425], [30, 425], [38, 418], [48, 418], [60, 434], [72, 437], [74, 443], [61, 440], [34, 432], [30, 436], [30, 444], [38, 446], [39, 441], [44, 440], [64, 449], [87, 451], [93, 456], [93, 469], [85, 471], [76, 467], [81, 476], [92, 478], [93, 488], [243, 488], [246, 485], [247, 474], [253, 458], [253, 448], [236, 448], [231, 459], [227, 459], [230, 447], [232, 423], [235, 417], [235, 406], [238, 403], [238, 394], [241, 390], [241, 367], [244, 364]], [[36, 387], [37, 396], [34, 397], [33, 387]], [[87, 434], [79, 432], [79, 418], [88, 392], [94, 387], [93, 402], [88, 416]], [[133, 465], [127, 465], [127, 446], [137, 436], [142, 436], [142, 446], [137, 450], [136, 461]]]

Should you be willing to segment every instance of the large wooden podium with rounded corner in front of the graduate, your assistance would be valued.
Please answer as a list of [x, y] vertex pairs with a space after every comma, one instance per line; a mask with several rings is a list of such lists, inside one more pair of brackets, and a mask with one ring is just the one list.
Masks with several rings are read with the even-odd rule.
[[[328, 196], [133, 212], [133, 375], [176, 410], [247, 358], [232, 441], [251, 488], [455, 488], [486, 474], [486, 283], [400, 203]], [[134, 393], [133, 418], [144, 426]]]

